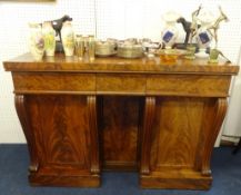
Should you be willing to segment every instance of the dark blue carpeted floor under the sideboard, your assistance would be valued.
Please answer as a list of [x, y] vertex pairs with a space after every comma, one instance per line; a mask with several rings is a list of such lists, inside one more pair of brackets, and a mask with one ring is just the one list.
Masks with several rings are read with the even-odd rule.
[[241, 152], [214, 149], [210, 191], [140, 189], [137, 173], [103, 173], [100, 188], [30, 187], [26, 145], [0, 145], [0, 195], [241, 195]]

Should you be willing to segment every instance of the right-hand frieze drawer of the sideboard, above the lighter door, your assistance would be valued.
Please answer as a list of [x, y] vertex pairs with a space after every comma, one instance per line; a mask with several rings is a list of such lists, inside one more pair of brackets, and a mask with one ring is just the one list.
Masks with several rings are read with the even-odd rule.
[[230, 78], [212, 75], [152, 75], [147, 80], [147, 94], [227, 97]]

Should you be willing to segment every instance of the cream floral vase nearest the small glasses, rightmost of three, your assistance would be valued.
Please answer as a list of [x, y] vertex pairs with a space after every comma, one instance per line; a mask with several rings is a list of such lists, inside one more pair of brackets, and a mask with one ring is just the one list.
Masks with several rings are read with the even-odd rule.
[[74, 51], [74, 33], [71, 21], [63, 22], [61, 29], [63, 50], [66, 56], [73, 56]]

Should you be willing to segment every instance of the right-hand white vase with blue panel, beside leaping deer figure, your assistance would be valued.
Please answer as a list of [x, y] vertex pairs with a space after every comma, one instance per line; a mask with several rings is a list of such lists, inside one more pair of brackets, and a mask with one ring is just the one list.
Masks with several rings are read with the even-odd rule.
[[209, 28], [212, 25], [213, 20], [213, 14], [207, 9], [202, 9], [200, 11], [200, 14], [198, 16], [198, 21], [201, 25], [201, 27], [197, 30], [197, 42], [199, 46], [199, 52], [195, 53], [195, 57], [198, 58], [209, 57], [209, 55], [207, 53], [207, 48], [210, 46], [212, 40], [212, 33]]

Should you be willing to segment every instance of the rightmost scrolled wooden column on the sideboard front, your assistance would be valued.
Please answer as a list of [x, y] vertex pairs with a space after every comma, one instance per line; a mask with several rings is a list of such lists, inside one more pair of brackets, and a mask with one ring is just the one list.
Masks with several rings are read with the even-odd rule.
[[209, 130], [209, 136], [204, 145], [204, 154], [202, 158], [202, 175], [211, 176], [210, 160], [212, 156], [212, 150], [220, 128], [222, 126], [227, 113], [227, 107], [228, 104], [225, 98], [217, 99], [213, 123], [211, 129]]

